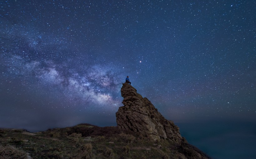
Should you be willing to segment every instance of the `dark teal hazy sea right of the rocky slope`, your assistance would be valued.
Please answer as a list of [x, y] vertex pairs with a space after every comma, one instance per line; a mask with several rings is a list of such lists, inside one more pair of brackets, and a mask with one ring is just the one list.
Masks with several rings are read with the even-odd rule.
[[213, 159], [256, 159], [256, 121], [175, 124], [181, 136]]

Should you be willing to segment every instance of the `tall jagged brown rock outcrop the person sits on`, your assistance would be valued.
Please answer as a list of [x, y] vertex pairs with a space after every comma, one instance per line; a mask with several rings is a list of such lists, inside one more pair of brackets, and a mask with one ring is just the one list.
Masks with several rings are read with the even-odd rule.
[[124, 83], [121, 88], [124, 106], [116, 112], [116, 122], [121, 129], [157, 139], [171, 139], [180, 143], [182, 137], [179, 127], [173, 121], [166, 120], [147, 99], [143, 98], [130, 84]]

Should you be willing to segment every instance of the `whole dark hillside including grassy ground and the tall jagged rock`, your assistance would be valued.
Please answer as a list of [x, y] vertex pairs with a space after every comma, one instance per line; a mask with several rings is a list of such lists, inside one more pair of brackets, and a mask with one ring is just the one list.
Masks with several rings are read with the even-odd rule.
[[30, 133], [0, 129], [1, 159], [208, 159], [147, 99], [123, 84], [116, 127], [79, 124]]

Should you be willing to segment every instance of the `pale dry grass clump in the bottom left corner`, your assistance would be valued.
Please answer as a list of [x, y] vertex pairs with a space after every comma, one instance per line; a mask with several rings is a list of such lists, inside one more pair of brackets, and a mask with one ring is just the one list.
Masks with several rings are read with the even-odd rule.
[[7, 145], [3, 147], [0, 145], [0, 158], [1, 159], [27, 159], [27, 153], [15, 148], [14, 146]]

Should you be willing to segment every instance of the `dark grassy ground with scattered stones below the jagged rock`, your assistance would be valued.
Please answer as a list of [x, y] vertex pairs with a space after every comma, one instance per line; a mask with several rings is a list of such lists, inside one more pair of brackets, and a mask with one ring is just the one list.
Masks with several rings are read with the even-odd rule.
[[8, 155], [14, 159], [17, 155], [20, 155], [17, 158], [26, 158], [27, 153], [33, 159], [192, 159], [205, 156], [186, 142], [176, 145], [166, 139], [152, 141], [118, 127], [80, 124], [33, 134], [20, 129], [0, 129], [0, 134], [1, 159], [7, 159]]

